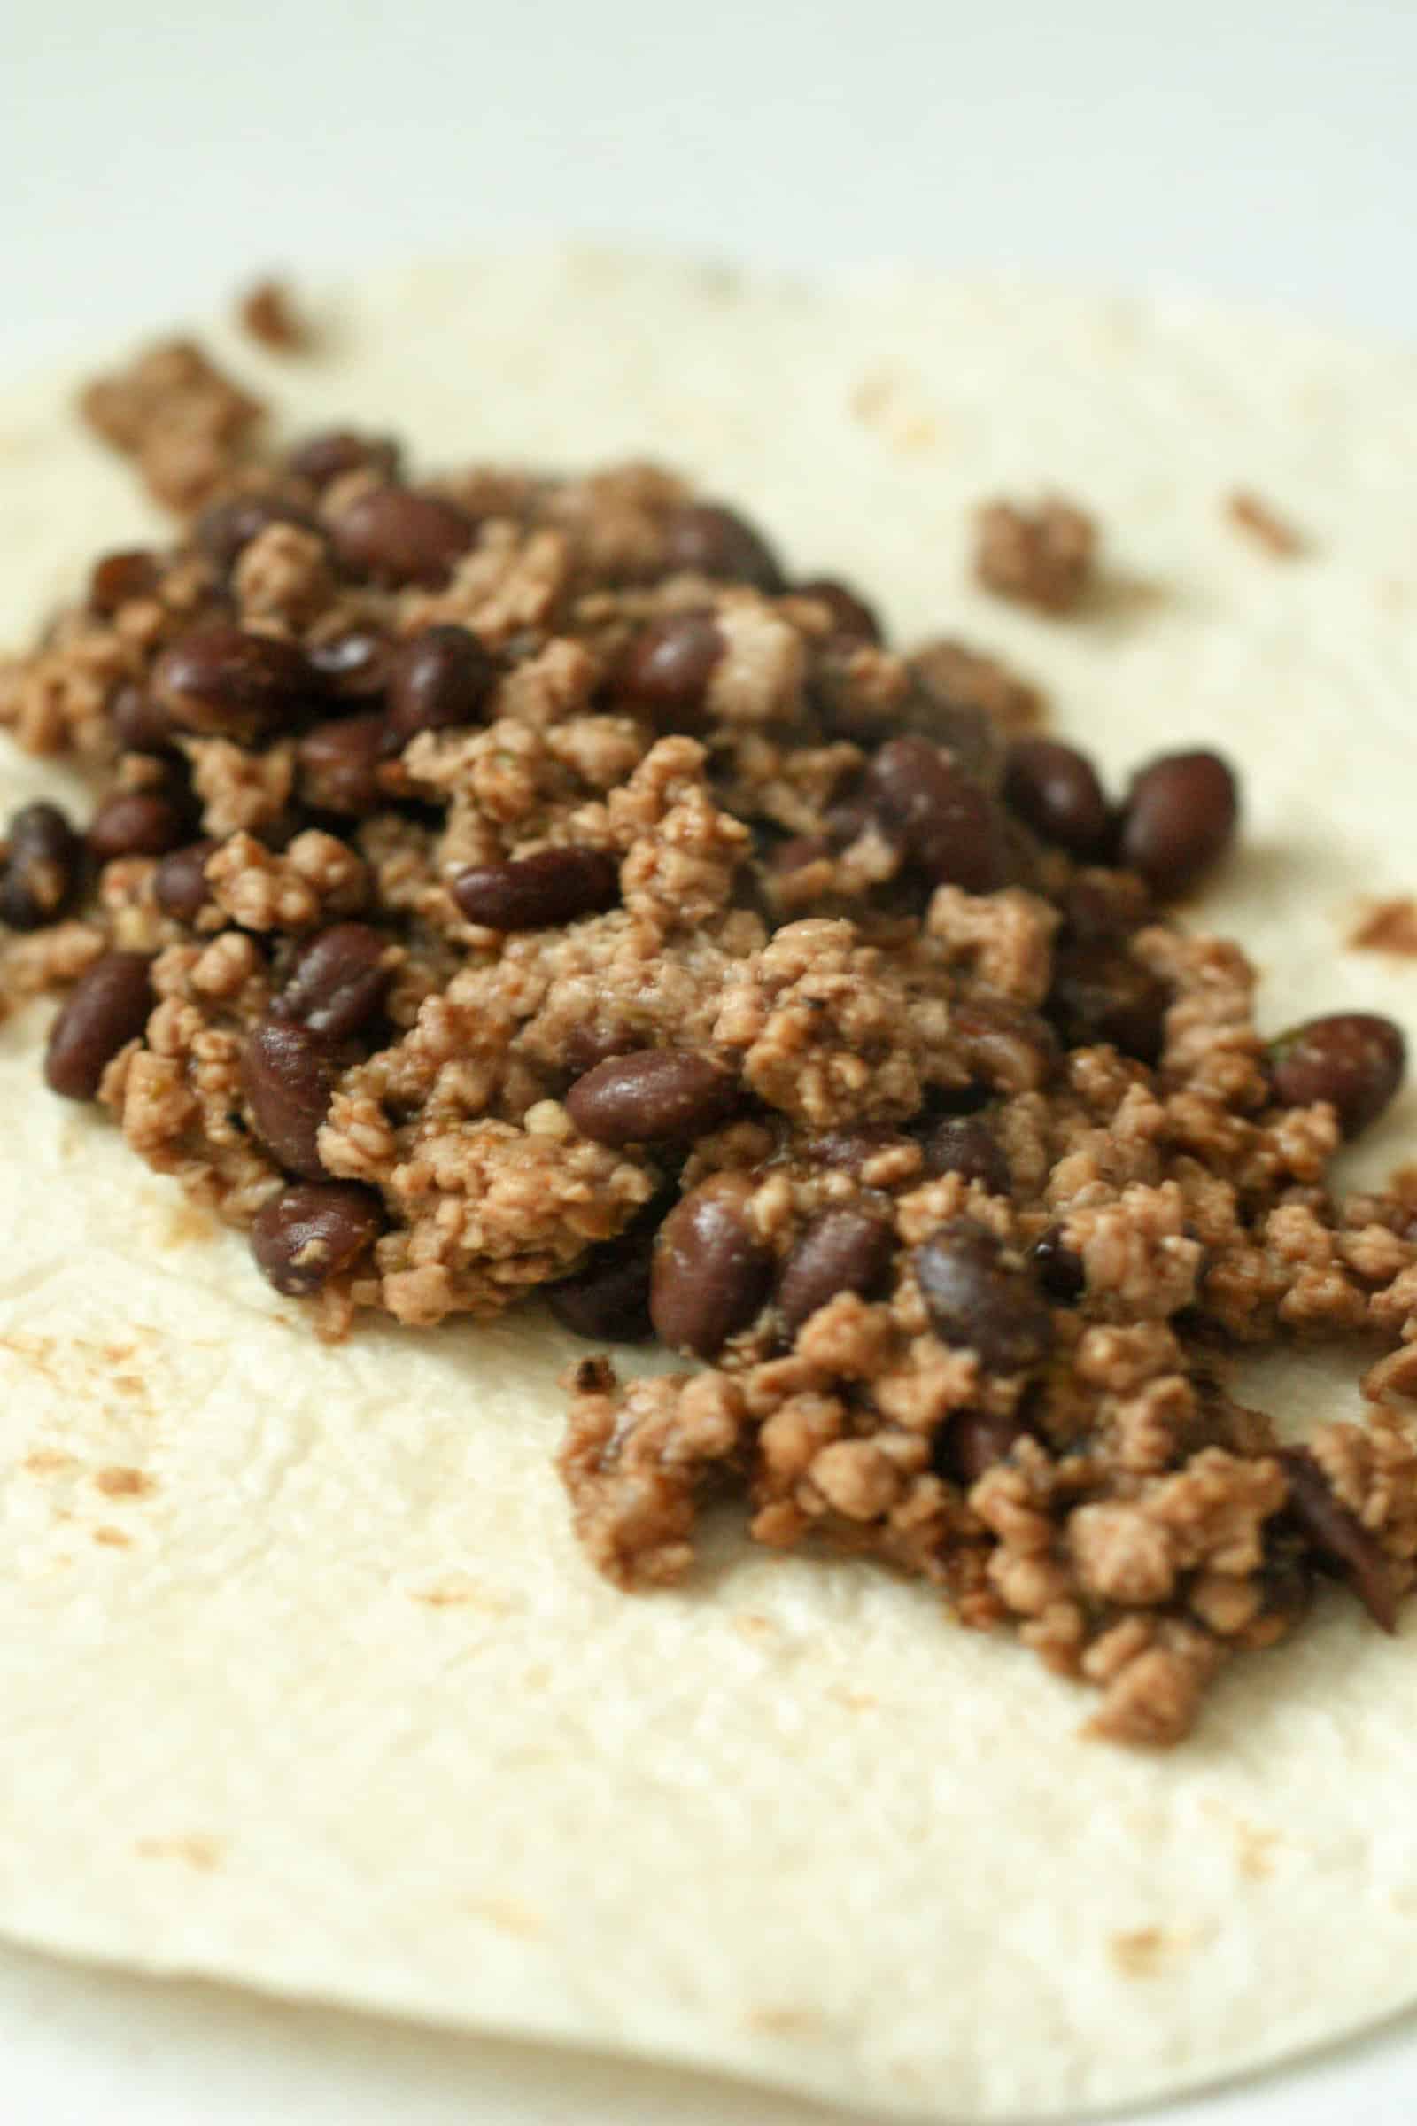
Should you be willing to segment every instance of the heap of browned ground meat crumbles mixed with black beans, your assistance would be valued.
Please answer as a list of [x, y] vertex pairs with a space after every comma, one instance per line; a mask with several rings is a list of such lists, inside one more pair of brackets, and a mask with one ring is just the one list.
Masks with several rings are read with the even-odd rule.
[[[4, 995], [47, 1078], [251, 1231], [323, 1335], [542, 1290], [690, 1369], [569, 1382], [576, 1529], [682, 1577], [714, 1490], [873, 1554], [1175, 1743], [1315, 1573], [1417, 1580], [1411, 1191], [1336, 1201], [1402, 1035], [1266, 1040], [1239, 946], [1160, 910], [1224, 857], [1213, 753], [1111, 804], [1030, 687], [890, 648], [650, 466], [410, 483], [285, 457], [189, 342], [85, 395], [183, 514], [0, 674], [104, 776], [8, 827]], [[1075, 600], [1092, 527], [986, 519]], [[1379, 1337], [1366, 1422], [1279, 1446], [1226, 1344]]]

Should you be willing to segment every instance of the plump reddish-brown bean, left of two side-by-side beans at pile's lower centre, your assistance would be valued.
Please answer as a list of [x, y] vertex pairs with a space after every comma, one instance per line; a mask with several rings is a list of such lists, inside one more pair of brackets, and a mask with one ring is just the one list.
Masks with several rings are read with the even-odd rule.
[[771, 1250], [748, 1222], [752, 1182], [716, 1174], [669, 1212], [650, 1267], [650, 1320], [661, 1344], [716, 1359], [767, 1299]]

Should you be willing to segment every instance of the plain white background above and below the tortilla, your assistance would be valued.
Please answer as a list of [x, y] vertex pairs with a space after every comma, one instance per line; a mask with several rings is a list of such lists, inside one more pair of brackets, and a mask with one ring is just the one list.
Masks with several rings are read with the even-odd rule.
[[[1415, 85], [1417, 0], [0, 0], [0, 381], [259, 268], [567, 232], [1183, 283], [1417, 338]], [[1345, 2113], [1411, 2126], [1417, 2032], [1166, 2122]], [[826, 2113], [0, 1952], [0, 2117]]]

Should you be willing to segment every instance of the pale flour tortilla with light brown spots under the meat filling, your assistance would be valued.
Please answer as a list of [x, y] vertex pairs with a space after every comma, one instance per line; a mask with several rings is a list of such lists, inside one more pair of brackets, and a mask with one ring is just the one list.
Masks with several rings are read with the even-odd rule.
[[[1417, 963], [1343, 944], [1417, 884], [1413, 359], [1181, 302], [582, 255], [323, 308], [319, 355], [225, 349], [291, 429], [667, 457], [903, 636], [1009, 655], [1113, 778], [1224, 742], [1247, 833], [1205, 916], [1266, 1020], [1375, 1006], [1417, 1040]], [[0, 474], [19, 638], [157, 521], [53, 383], [0, 404]], [[1041, 485], [1107, 529], [1069, 623], [967, 580], [969, 506]], [[1236, 485], [1313, 553], [1236, 534]], [[6, 810], [70, 787], [0, 774]], [[529, 1314], [319, 1348], [40, 1089], [38, 1031], [0, 1029], [0, 1928], [952, 2120], [1177, 2092], [1413, 2001], [1411, 1622], [1326, 1597], [1151, 1758], [1077, 1739], [1086, 1694], [928, 1590], [733, 1518], [686, 1588], [627, 1599], [550, 1467], [569, 1339]], [[1302, 1429], [1358, 1407], [1358, 1363], [1256, 1378]]]

